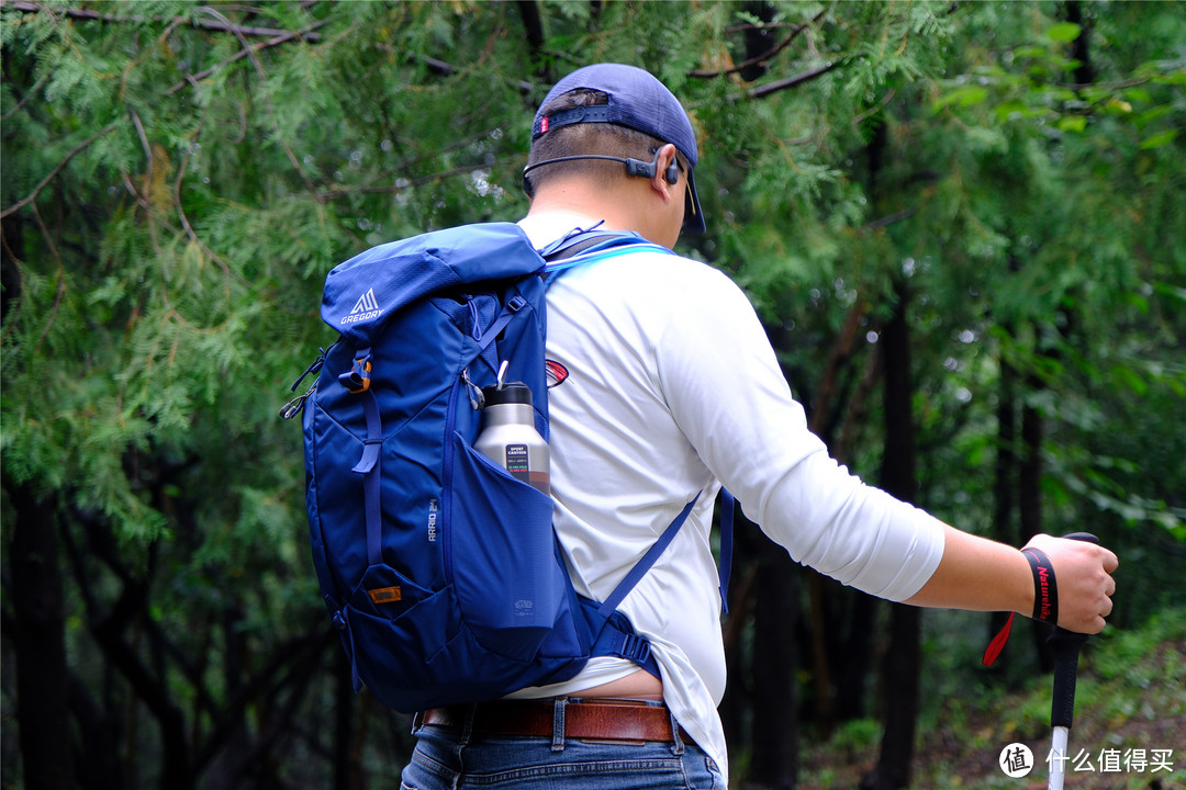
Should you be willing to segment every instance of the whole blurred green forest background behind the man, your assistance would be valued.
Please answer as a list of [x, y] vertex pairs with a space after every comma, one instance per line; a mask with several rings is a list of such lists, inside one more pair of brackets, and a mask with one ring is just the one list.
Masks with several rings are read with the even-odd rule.
[[[680, 249], [751, 295], [837, 458], [964, 529], [1116, 548], [1089, 702], [1160, 721], [1130, 745], [1186, 767], [1181, 4], [0, 15], [4, 788], [398, 786], [409, 721], [351, 693], [276, 412], [334, 340], [330, 268], [522, 216], [531, 114], [597, 60], [689, 110], [709, 232]], [[999, 617], [892, 606], [741, 533], [735, 788], [989, 786], [967, 756], [919, 766], [1044, 753], [1048, 701], [1005, 730], [990, 708], [1048, 689], [1038, 628], [986, 669]]]

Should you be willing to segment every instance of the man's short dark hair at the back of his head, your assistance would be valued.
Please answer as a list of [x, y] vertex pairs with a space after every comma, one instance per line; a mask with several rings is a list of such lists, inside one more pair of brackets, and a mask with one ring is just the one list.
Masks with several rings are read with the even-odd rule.
[[[540, 111], [551, 116], [578, 107], [595, 107], [607, 104], [610, 97], [600, 90], [579, 88], [548, 102]], [[658, 137], [624, 127], [617, 123], [569, 123], [550, 129], [531, 143], [527, 166], [561, 156], [579, 156], [581, 154], [599, 154], [602, 156], [621, 156], [623, 159], [651, 160], [655, 153], [667, 144]], [[676, 152], [681, 167], [687, 171], [688, 162], [683, 154]], [[625, 167], [619, 162], [598, 159], [579, 159], [556, 162], [547, 167], [533, 169], [523, 176], [523, 191], [529, 198], [548, 179], [570, 175], [592, 176], [605, 185], [611, 185], [617, 178], [626, 175]]]

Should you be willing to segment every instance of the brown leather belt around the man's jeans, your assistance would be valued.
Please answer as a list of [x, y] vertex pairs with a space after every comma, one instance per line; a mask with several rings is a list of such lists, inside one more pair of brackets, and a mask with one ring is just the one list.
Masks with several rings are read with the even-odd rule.
[[[551, 738], [557, 700], [499, 700], [483, 702], [473, 713], [476, 736], [529, 736]], [[670, 743], [671, 713], [665, 705], [637, 700], [582, 699], [563, 706], [565, 738], [582, 740], [657, 740]], [[423, 722], [460, 730], [468, 705], [426, 711]], [[687, 739], [686, 733], [680, 733]]]

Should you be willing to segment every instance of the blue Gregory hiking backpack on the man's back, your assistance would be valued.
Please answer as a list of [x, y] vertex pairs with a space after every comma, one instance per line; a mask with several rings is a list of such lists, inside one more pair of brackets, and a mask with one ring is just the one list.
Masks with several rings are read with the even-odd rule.
[[[304, 411], [313, 565], [355, 691], [412, 713], [568, 680], [592, 656], [658, 675], [617, 608], [696, 500], [593, 602], [568, 578], [551, 499], [472, 448], [480, 391], [503, 364], [531, 388], [548, 438], [547, 282], [640, 245], [663, 249], [591, 231], [540, 252], [515, 224], [466, 225], [376, 246], [326, 277], [321, 317], [340, 336], [281, 416]], [[722, 524], [732, 510], [726, 500]]]

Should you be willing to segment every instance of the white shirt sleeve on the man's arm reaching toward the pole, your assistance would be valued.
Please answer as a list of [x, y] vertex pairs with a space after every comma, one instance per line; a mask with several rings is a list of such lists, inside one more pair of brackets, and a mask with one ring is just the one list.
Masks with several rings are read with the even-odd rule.
[[665, 301], [657, 343], [671, 413], [746, 515], [798, 563], [903, 600], [935, 572], [943, 525], [866, 486], [808, 429], [745, 294], [704, 266]]

